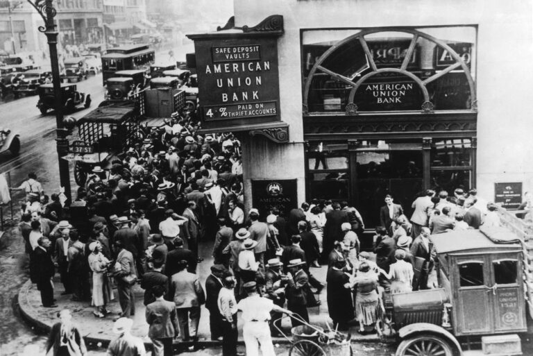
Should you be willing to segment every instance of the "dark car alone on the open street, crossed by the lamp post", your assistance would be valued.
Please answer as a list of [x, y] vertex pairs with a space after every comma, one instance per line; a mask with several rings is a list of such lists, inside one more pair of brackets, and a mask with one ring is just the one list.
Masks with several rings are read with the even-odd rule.
[[[42, 115], [46, 115], [49, 109], [54, 108], [53, 84], [40, 85], [37, 92], [39, 93], [37, 108]], [[89, 108], [91, 105], [91, 95], [78, 92], [76, 84], [61, 83], [61, 99], [65, 112], [74, 112], [78, 105], [83, 105], [84, 108]]]

